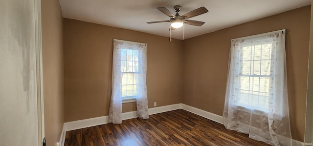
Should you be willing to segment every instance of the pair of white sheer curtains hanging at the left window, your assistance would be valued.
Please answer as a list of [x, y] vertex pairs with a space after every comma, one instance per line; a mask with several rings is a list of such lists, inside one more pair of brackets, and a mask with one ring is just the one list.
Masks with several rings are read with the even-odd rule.
[[[127, 58], [124, 50], [132, 50], [134, 52], [134, 58], [136, 63], [133, 66], [128, 66], [126, 63], [122, 63], [122, 58]], [[109, 123], [121, 124], [122, 123], [122, 75], [123, 72], [131, 67], [130, 72], [134, 75], [134, 82], [136, 86], [136, 94], [132, 96], [137, 102], [138, 117], [142, 119], [148, 119], [148, 100], [147, 100], [147, 86], [146, 86], [146, 74], [147, 74], [147, 55], [146, 44], [128, 42], [121, 40], [113, 41], [113, 65], [112, 65], [112, 96], [109, 109]]]

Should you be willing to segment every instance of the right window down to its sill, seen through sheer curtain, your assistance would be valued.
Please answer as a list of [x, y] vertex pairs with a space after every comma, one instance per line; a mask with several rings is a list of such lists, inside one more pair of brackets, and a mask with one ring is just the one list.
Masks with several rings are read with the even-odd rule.
[[231, 41], [225, 113], [236, 113], [230, 110], [238, 109], [258, 115], [274, 113], [276, 119], [286, 115], [284, 32], [279, 30]]

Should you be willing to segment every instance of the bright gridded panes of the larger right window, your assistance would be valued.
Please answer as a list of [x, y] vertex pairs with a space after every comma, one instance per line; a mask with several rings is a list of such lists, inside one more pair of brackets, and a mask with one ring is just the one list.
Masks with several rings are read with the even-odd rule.
[[242, 45], [238, 105], [268, 111], [271, 45], [266, 41]]

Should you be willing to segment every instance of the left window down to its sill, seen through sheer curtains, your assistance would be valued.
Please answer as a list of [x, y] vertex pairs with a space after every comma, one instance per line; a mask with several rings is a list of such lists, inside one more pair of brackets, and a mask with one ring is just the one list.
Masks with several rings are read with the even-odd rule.
[[114, 40], [113, 44], [114, 95], [123, 103], [146, 97], [146, 44], [122, 40]]

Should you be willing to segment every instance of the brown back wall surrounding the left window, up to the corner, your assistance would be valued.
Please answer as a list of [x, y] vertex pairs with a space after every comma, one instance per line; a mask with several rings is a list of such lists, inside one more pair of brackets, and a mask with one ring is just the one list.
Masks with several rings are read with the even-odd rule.
[[[181, 40], [64, 19], [65, 122], [108, 115], [113, 39], [147, 43], [149, 108], [181, 103]], [[123, 112], [135, 109], [123, 104]]]

